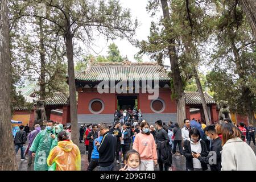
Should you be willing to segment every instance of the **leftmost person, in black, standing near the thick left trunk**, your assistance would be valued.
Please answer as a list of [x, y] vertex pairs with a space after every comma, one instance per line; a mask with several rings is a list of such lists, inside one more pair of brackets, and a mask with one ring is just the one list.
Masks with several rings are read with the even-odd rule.
[[26, 158], [24, 157], [24, 144], [26, 143], [26, 132], [23, 130], [24, 126], [20, 125], [19, 126], [19, 131], [16, 133], [15, 137], [14, 137], [14, 145], [15, 145], [15, 152], [17, 154], [17, 152], [19, 151], [20, 148], [20, 156], [22, 160], [25, 160]]

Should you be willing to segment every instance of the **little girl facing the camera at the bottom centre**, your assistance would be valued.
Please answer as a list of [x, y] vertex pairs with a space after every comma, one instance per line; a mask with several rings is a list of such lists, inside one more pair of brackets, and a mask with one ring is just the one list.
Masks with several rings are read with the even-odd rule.
[[125, 167], [119, 169], [119, 171], [139, 171], [140, 164], [141, 156], [139, 155], [139, 152], [129, 150], [125, 158]]

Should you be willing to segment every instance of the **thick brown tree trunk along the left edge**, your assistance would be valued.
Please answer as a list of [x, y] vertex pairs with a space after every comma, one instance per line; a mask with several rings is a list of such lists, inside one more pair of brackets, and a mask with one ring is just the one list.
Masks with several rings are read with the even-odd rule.
[[14, 171], [16, 156], [11, 129], [11, 60], [7, 1], [0, 1], [0, 170]]

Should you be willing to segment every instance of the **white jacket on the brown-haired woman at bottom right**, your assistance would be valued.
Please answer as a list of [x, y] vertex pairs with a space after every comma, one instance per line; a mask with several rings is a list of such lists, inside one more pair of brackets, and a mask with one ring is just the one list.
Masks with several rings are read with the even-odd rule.
[[221, 166], [221, 171], [256, 171], [256, 156], [241, 138], [232, 138], [222, 146]]

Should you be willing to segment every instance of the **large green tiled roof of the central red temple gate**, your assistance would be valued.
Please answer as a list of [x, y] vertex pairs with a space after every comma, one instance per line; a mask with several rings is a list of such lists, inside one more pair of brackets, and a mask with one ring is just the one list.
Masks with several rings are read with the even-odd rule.
[[76, 72], [80, 81], [162, 80], [169, 81], [166, 70], [156, 63], [98, 63], [85, 72]]

